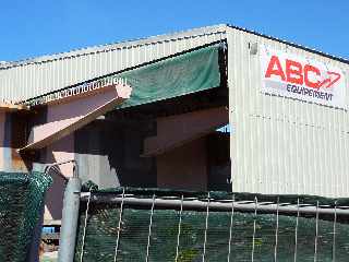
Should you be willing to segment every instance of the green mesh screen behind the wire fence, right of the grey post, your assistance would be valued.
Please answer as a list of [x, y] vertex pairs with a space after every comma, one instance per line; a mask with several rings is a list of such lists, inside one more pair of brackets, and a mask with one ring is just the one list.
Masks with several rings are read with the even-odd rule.
[[[95, 194], [116, 196], [121, 190], [95, 191]], [[128, 189], [136, 198], [188, 198], [205, 199], [207, 193], [190, 193], [164, 190], [134, 190]], [[119, 195], [120, 196], [120, 195]], [[212, 192], [212, 201], [231, 199], [227, 192]], [[234, 194], [237, 201], [251, 201], [256, 195]], [[262, 201], [276, 201], [273, 195], [257, 195]], [[334, 204], [335, 200], [315, 196], [280, 196], [281, 202], [297, 202], [302, 204]], [[348, 206], [348, 200], [338, 201], [340, 205]], [[85, 226], [86, 202], [82, 203], [80, 227], [75, 249], [75, 261], [115, 261], [115, 251], [118, 239], [118, 225], [120, 205], [111, 203], [91, 202]], [[181, 215], [180, 215], [181, 214]], [[117, 261], [146, 261], [148, 231], [152, 211], [149, 207], [124, 205], [119, 237]], [[179, 262], [203, 261], [205, 247], [205, 261], [228, 261], [229, 239], [230, 261], [274, 261], [275, 250], [278, 261], [293, 261], [296, 253], [296, 215], [278, 216], [278, 234], [276, 245], [276, 214], [217, 212], [209, 211], [206, 229], [206, 211], [166, 210], [155, 205], [152, 216], [151, 241], [148, 261], [176, 261], [179, 223], [181, 219], [181, 234], [179, 236]], [[231, 224], [232, 218], [232, 224]], [[335, 250], [336, 261], [348, 261], [349, 258], [349, 225], [348, 217], [337, 216], [334, 245], [334, 216], [320, 216], [317, 219], [316, 261], [333, 261]], [[230, 226], [232, 225], [232, 226]], [[83, 239], [84, 228], [86, 237]], [[205, 243], [206, 230], [206, 243]], [[231, 231], [231, 238], [230, 238]], [[315, 253], [315, 215], [302, 215], [298, 218], [297, 230], [297, 261], [314, 261]], [[253, 234], [254, 233], [254, 234]], [[253, 242], [254, 238], [254, 242]], [[84, 242], [84, 248], [82, 245]]]

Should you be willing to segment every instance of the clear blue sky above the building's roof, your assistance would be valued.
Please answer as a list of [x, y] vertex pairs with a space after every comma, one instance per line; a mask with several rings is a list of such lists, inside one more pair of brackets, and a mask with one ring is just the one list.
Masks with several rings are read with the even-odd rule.
[[0, 60], [229, 23], [349, 59], [349, 1], [3, 0]]

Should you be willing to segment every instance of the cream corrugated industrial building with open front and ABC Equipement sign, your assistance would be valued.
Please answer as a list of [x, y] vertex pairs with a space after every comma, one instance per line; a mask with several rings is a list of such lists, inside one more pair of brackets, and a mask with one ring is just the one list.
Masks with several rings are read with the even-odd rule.
[[[217, 25], [0, 64], [0, 170], [348, 196], [349, 61]], [[61, 218], [55, 176], [47, 221]]]

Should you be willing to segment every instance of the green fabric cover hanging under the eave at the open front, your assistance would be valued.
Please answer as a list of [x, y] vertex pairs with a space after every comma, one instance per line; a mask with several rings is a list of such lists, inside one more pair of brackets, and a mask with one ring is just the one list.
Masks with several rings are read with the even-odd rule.
[[218, 46], [209, 46], [123, 72], [133, 88], [118, 108], [139, 106], [195, 93], [220, 84]]

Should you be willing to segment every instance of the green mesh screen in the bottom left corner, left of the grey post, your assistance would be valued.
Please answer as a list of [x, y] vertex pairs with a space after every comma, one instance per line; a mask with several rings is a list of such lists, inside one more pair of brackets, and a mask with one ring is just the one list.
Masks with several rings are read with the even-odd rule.
[[0, 172], [0, 261], [27, 261], [51, 178]]

